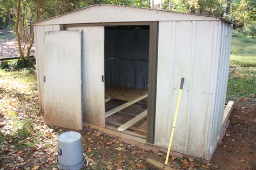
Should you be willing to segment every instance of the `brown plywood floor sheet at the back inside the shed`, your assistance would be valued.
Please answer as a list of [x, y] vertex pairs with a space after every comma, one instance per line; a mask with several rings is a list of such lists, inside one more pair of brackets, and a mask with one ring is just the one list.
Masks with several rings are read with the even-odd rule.
[[147, 90], [122, 87], [122, 86], [107, 86], [105, 87], [105, 97], [113, 98], [121, 101], [130, 102], [139, 96], [145, 95]]

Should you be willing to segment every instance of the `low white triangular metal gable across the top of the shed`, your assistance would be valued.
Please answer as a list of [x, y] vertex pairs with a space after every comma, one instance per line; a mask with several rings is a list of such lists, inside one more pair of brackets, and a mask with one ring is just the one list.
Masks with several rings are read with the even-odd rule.
[[[112, 22], [150, 22], [171, 20], [225, 20], [223, 18], [180, 13], [156, 9], [138, 8], [133, 6], [120, 6], [97, 4], [65, 13], [60, 16], [44, 19], [33, 25], [54, 24], [83, 24], [83, 23], [112, 23]], [[228, 20], [225, 20], [231, 23]]]

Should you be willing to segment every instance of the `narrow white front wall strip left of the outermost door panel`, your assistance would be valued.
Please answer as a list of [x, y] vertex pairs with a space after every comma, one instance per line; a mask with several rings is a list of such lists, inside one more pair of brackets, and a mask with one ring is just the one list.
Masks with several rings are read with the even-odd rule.
[[36, 46], [36, 67], [39, 107], [44, 108], [44, 35], [46, 31], [59, 31], [59, 25], [38, 25], [34, 26], [35, 46]]

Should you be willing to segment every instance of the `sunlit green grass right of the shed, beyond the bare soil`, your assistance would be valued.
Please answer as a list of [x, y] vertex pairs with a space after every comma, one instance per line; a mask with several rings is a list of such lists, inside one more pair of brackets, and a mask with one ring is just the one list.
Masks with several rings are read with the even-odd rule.
[[231, 66], [237, 69], [228, 79], [227, 98], [238, 100], [256, 94], [256, 39], [234, 31], [232, 37]]

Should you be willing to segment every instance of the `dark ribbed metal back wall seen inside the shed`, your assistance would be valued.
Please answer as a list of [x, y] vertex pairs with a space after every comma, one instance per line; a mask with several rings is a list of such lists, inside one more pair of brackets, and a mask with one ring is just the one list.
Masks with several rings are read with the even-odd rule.
[[105, 28], [105, 86], [147, 89], [148, 65], [148, 28]]

